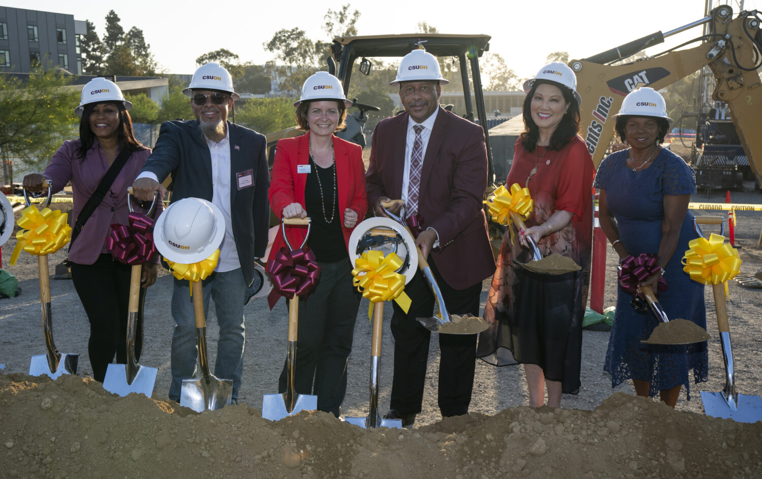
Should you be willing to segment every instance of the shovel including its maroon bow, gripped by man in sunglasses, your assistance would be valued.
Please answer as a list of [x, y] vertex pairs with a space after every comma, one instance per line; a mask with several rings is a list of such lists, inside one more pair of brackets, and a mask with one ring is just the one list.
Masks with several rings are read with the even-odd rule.
[[[127, 194], [131, 195], [133, 193], [132, 190], [132, 187], [130, 187]], [[106, 369], [106, 375], [103, 380], [103, 388], [106, 391], [120, 396], [126, 396], [127, 394], [134, 392], [137, 394], [145, 394], [146, 397], [150, 398], [156, 383], [156, 375], [158, 374], [158, 369], [140, 365], [135, 357], [135, 335], [137, 331], [139, 310], [142, 309], [142, 305], [140, 305], [142, 263], [152, 259], [152, 257], [146, 257], [146, 255], [151, 252], [156, 254], [152, 238], [149, 239], [146, 235], [153, 230], [153, 221], [150, 220], [150, 218], [152, 217], [153, 212], [155, 212], [157, 201], [160, 201], [158, 191], [153, 197], [153, 203], [151, 204], [148, 213], [146, 213], [146, 218], [133, 218], [133, 203], [130, 201], [129, 197], [127, 198], [127, 207], [130, 209], [130, 219], [134, 220], [133, 225], [135, 225], [134, 228], [136, 229], [135, 232], [128, 233], [126, 231], [127, 228], [123, 228], [122, 238], [123, 241], [131, 240], [133, 238], [135, 240], [127, 243], [131, 247], [129, 251], [130, 257], [135, 258], [130, 272], [130, 299], [127, 303], [127, 357], [126, 364], [110, 363]], [[114, 233], [112, 233], [112, 235], [114, 235]], [[114, 241], [112, 245], [114, 246], [112, 249], [114, 259], [117, 259], [118, 251], [121, 248], [117, 247], [117, 241]], [[147, 249], [148, 251], [139, 251], [141, 248]], [[124, 252], [128, 253], [128, 251]], [[142, 298], [145, 300], [145, 296]]]

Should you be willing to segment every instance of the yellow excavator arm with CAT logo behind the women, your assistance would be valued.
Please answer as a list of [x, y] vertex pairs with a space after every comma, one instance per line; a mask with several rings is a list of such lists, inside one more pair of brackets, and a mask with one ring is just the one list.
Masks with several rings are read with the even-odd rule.
[[[730, 107], [749, 164], [762, 184], [762, 83], [757, 73], [762, 30], [756, 14], [742, 11], [732, 18], [732, 8], [722, 5], [712, 10], [709, 17], [668, 34], [658, 32], [588, 59], [569, 62], [577, 74], [582, 97], [581, 136], [596, 168], [614, 135], [613, 114], [619, 111], [626, 94], [641, 86], [659, 90], [709, 65], [717, 81], [712, 97]], [[699, 46], [626, 65], [606, 64], [661, 43], [669, 34], [703, 23], [709, 23], [710, 33], [699, 39], [702, 42]]]

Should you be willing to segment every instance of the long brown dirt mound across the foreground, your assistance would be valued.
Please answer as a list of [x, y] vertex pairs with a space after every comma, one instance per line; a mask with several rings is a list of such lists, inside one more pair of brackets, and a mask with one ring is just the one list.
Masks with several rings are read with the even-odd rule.
[[595, 410], [511, 407], [363, 430], [246, 405], [197, 414], [91, 378], [0, 375], [3, 477], [762, 477], [762, 423], [615, 393]]

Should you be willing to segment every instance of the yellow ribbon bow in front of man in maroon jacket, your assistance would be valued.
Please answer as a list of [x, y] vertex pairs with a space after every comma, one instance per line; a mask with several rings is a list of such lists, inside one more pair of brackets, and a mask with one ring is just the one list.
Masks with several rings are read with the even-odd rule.
[[368, 318], [373, 303], [394, 299], [403, 311], [410, 309], [410, 298], [405, 294], [405, 275], [395, 273], [402, 266], [402, 259], [395, 253], [384, 257], [382, 251], [365, 251], [354, 260], [352, 285], [363, 297], [370, 299]]

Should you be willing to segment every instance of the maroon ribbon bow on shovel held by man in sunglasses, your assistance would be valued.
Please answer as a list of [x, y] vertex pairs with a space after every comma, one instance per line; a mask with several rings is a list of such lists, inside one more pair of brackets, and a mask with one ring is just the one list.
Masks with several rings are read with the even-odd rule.
[[132, 212], [127, 217], [129, 226], [111, 225], [111, 234], [106, 238], [106, 247], [114, 259], [122, 264], [135, 266], [153, 260], [157, 255], [153, 242], [155, 221], [142, 213]]

